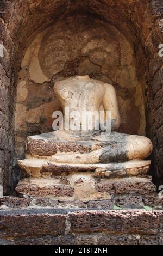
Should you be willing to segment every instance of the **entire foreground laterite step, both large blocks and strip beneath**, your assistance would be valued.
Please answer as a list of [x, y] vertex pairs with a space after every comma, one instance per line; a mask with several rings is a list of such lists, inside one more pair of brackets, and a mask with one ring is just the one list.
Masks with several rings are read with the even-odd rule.
[[[0, 211], [1, 244], [162, 244], [163, 211], [61, 210]], [[71, 242], [70, 242], [71, 240]]]

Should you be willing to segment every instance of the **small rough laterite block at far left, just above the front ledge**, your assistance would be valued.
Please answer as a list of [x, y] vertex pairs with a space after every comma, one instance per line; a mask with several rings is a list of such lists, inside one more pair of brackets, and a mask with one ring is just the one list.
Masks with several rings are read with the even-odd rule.
[[9, 208], [20, 208], [29, 206], [29, 199], [4, 196], [0, 198], [0, 205], [6, 205]]

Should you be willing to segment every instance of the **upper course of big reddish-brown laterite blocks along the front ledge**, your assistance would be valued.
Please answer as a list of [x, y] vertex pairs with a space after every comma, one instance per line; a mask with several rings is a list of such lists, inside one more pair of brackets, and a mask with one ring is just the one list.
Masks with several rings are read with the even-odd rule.
[[160, 235], [163, 211], [34, 208], [0, 211], [0, 238], [57, 235]]

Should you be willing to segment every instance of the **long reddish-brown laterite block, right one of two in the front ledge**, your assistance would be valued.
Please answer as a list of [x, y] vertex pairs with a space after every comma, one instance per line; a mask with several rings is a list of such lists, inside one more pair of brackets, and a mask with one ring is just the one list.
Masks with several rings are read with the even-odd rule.
[[152, 210], [83, 211], [70, 214], [70, 223], [72, 233], [76, 234], [158, 234], [160, 217], [161, 212]]

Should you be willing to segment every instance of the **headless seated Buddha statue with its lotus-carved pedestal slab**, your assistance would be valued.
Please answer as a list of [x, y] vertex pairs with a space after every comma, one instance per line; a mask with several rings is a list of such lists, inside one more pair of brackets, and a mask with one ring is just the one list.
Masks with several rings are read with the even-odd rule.
[[[151, 161], [145, 159], [152, 152], [152, 142], [143, 136], [117, 132], [121, 120], [114, 86], [87, 75], [76, 76], [55, 82], [54, 93], [64, 118], [58, 130], [27, 138], [26, 159], [18, 161], [27, 176], [87, 170], [108, 178], [113, 172], [120, 176], [147, 173]], [[70, 112], [68, 117], [65, 109]], [[109, 131], [99, 125], [102, 112], [105, 124], [110, 124]], [[97, 118], [89, 129], [83, 119], [67, 129], [65, 121], [71, 124], [76, 119], [72, 113], [80, 117], [97, 113]], [[108, 113], [110, 119], [106, 120]]]

